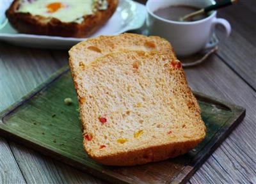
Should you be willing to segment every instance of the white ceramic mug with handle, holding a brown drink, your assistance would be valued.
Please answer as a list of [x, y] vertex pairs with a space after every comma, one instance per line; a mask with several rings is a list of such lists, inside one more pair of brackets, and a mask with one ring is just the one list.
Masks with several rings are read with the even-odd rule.
[[148, 11], [147, 27], [149, 34], [166, 38], [172, 44], [177, 56], [182, 57], [195, 54], [203, 49], [215, 47], [218, 42], [209, 42], [214, 33], [215, 26], [221, 24], [225, 27], [226, 37], [229, 36], [231, 31], [227, 20], [216, 18], [216, 11], [212, 11], [205, 19], [193, 22], [167, 20], [154, 14], [154, 11], [168, 6], [188, 5], [204, 8], [215, 3], [213, 0], [148, 0], [146, 7]]

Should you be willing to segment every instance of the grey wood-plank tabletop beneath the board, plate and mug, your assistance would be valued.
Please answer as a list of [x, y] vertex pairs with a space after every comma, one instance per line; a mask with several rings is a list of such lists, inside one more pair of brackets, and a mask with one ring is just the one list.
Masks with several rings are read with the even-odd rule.
[[[140, 0], [140, 2], [145, 3], [146, 1]], [[244, 179], [246, 178], [245, 176], [247, 173], [249, 173], [247, 176], [248, 179], [245, 181], [239, 180], [239, 183], [248, 183], [248, 180], [252, 181], [251, 183], [256, 183], [255, 175], [253, 179], [251, 172], [253, 169], [254, 171], [256, 170], [255, 166], [253, 167], [253, 163], [255, 163], [255, 143], [252, 142], [253, 139], [255, 140], [255, 134], [253, 134], [255, 132], [255, 127], [253, 127], [253, 124], [255, 125], [255, 111], [252, 110], [252, 105], [255, 107], [255, 104], [253, 104], [253, 102], [255, 102], [253, 94], [255, 93], [253, 93], [252, 89], [246, 86], [246, 84], [239, 77], [237, 77], [237, 75], [243, 77], [243, 80], [250, 84], [250, 86], [254, 86], [253, 88], [255, 89], [253, 72], [255, 73], [256, 62], [255, 52], [253, 53], [253, 49], [255, 49], [256, 42], [254, 31], [255, 27], [253, 28], [255, 24], [253, 24], [253, 21], [255, 21], [254, 17], [256, 13], [256, 6], [254, 0], [244, 0], [240, 1], [240, 3], [243, 6], [237, 4], [235, 11], [233, 11], [233, 6], [230, 6], [228, 9], [225, 8], [218, 11], [218, 17], [223, 17], [230, 21], [233, 29], [230, 38], [228, 38], [225, 43], [221, 43], [220, 50], [218, 51], [218, 56], [220, 56], [223, 60], [215, 59], [215, 57], [214, 59], [207, 59], [206, 62], [209, 63], [205, 63], [196, 68], [191, 68], [186, 72], [188, 74], [191, 86], [193, 86], [196, 91], [202, 91], [212, 96], [239, 103], [246, 107], [247, 115], [243, 123], [236, 128], [233, 134], [230, 135], [225, 142], [223, 142], [221, 147], [214, 152], [212, 157], [210, 157], [201, 167], [201, 169], [193, 176], [193, 178], [191, 178], [191, 183], [238, 183], [236, 181], [239, 179], [239, 176], [242, 175], [241, 178]], [[229, 15], [229, 13], [231, 13], [231, 15]], [[252, 24], [250, 22], [252, 22]], [[6, 50], [6, 48], [8, 48], [8, 50]], [[4, 60], [3, 50], [5, 50]], [[40, 57], [37, 56], [37, 54], [39, 54]], [[58, 54], [56, 55], [55, 51], [48, 52], [47, 50], [41, 49], [26, 49], [8, 45], [6, 43], [0, 43], [0, 81], [4, 83], [4, 88], [3, 86], [0, 86], [0, 95], [2, 95], [0, 98], [0, 109], [3, 110], [5, 107], [13, 104], [13, 102], [19, 99], [20, 96], [28, 93], [31, 88], [37, 86], [39, 82], [44, 81], [48, 75], [51, 75], [52, 72], [56, 71], [58, 68], [60, 68], [60, 66], [67, 63], [67, 60], [61, 59], [58, 61], [52, 61], [50, 55], [54, 56], [54, 59], [65, 58], [65, 56], [67, 56], [67, 52], [58, 51]], [[9, 58], [9, 60], [6, 58]], [[50, 58], [50, 60], [45, 60], [46, 58]], [[217, 62], [213, 63], [215, 61]], [[236, 73], [228, 69], [227, 65], [223, 64], [222, 62], [227, 63], [228, 67], [231, 67]], [[6, 75], [4, 78], [2, 73], [5, 73], [4, 76]], [[226, 74], [228, 79], [226, 79]], [[220, 77], [218, 77], [218, 75], [220, 75]], [[42, 76], [43, 79], [41, 78]], [[215, 80], [216, 76], [218, 77], [217, 80]], [[247, 96], [249, 96], [248, 99]], [[248, 112], [249, 109], [250, 112]], [[250, 128], [251, 126], [252, 128]], [[4, 143], [0, 142], [0, 144], [2, 146], [2, 144], [6, 144], [6, 141], [4, 141]], [[0, 148], [2, 148], [1, 146]], [[11, 148], [13, 148], [13, 146], [15, 146], [15, 143], [12, 144]], [[15, 152], [15, 149], [17, 149], [17, 152]], [[0, 153], [2, 154], [1, 151]], [[23, 162], [26, 162], [26, 160], [33, 160], [33, 162], [29, 161], [25, 163], [26, 165], [30, 165], [32, 163], [34, 164], [32, 164], [32, 169], [25, 169], [26, 172], [28, 172], [28, 178], [34, 177], [31, 179], [31, 181], [42, 181], [43, 178], [49, 178], [50, 181], [51, 177], [49, 175], [52, 174], [48, 173], [45, 174], [45, 176], [40, 176], [40, 173], [42, 173], [41, 169], [47, 170], [49, 167], [54, 167], [52, 166], [54, 165], [52, 164], [55, 162], [54, 160], [48, 160], [49, 158], [45, 158], [42, 155], [25, 148], [24, 146], [13, 148], [13, 152], [15, 152], [15, 157], [21, 155], [20, 157], [24, 159]], [[12, 160], [13, 158], [11, 155], [12, 153], [9, 150], [4, 155], [4, 158], [9, 159], [9, 157], [11, 157], [10, 160]], [[33, 157], [33, 159], [31, 157]], [[241, 164], [239, 164], [239, 159], [242, 159]], [[44, 160], [47, 167], [38, 167], [38, 164], [35, 164], [35, 162], [40, 163], [40, 160]], [[19, 165], [22, 166], [23, 164], [24, 163]], [[8, 168], [9, 171], [14, 171], [15, 174], [17, 164], [9, 161]], [[56, 169], [58, 169], [58, 173], [65, 173], [63, 168], [59, 169], [59, 167], [57, 167]], [[33, 176], [34, 173], [38, 174]], [[44, 171], [43, 173], [47, 172]], [[92, 180], [81, 179], [83, 177], [81, 177], [80, 174], [78, 174], [79, 176], [76, 177], [76, 172], [70, 174], [68, 177], [72, 178], [73, 174], [75, 175], [74, 178], [77, 178], [77, 180], [73, 178], [72, 183], [94, 183]], [[10, 173], [4, 176], [4, 181], [12, 181], [13, 176], [21, 178], [18, 173], [15, 175]], [[57, 180], [52, 178], [52, 181]], [[71, 179], [68, 181], [71, 181]], [[58, 180], [58, 183], [61, 183], [61, 180]]]

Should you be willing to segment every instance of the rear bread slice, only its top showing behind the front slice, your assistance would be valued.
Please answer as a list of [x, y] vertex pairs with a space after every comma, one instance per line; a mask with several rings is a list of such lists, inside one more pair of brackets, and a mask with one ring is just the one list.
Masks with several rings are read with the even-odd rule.
[[132, 33], [99, 36], [77, 43], [69, 50], [69, 65], [72, 73], [76, 72], [79, 66], [88, 65], [97, 57], [121, 50], [173, 52], [172, 45], [159, 36], [144, 36]]

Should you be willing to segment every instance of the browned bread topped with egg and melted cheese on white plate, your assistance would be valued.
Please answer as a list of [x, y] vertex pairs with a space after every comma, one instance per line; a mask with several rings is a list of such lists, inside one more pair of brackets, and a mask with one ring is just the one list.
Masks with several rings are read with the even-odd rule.
[[86, 37], [113, 15], [117, 4], [118, 0], [14, 0], [6, 17], [20, 33]]

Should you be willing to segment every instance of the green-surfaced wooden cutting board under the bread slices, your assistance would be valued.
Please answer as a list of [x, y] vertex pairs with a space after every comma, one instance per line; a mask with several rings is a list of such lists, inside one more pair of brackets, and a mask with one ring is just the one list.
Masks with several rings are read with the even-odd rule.
[[[84, 152], [76, 91], [68, 66], [1, 112], [0, 133], [113, 183], [185, 183], [244, 118], [245, 109], [195, 93], [207, 135], [188, 154], [132, 167], [97, 164]], [[65, 105], [65, 98], [72, 105]]]

